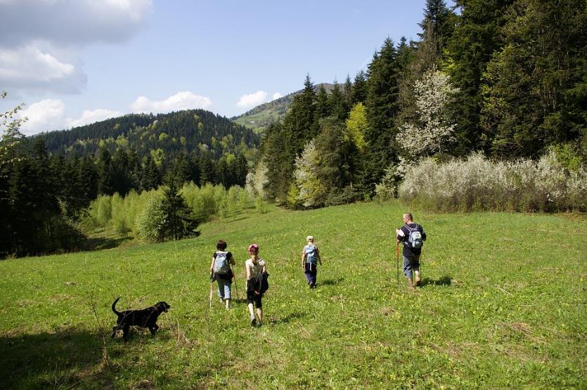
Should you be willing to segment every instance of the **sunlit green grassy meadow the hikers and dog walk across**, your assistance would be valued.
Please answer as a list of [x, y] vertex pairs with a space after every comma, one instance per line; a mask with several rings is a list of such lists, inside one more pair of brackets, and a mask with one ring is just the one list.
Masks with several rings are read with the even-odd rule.
[[[193, 240], [0, 262], [5, 388], [587, 388], [587, 221], [576, 215], [430, 214], [423, 286], [396, 282], [404, 208], [271, 209]], [[309, 290], [299, 254], [324, 265]], [[214, 299], [220, 238], [238, 263], [232, 311]], [[265, 323], [248, 325], [246, 247], [269, 266]], [[117, 308], [165, 300], [160, 332], [110, 339]]]

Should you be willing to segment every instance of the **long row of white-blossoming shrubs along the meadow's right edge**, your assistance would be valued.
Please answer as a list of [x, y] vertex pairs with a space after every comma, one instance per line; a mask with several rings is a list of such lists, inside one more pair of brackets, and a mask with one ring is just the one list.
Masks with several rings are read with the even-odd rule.
[[444, 164], [427, 158], [406, 168], [399, 197], [441, 211], [586, 211], [587, 171], [565, 169], [552, 151], [537, 162], [482, 153]]

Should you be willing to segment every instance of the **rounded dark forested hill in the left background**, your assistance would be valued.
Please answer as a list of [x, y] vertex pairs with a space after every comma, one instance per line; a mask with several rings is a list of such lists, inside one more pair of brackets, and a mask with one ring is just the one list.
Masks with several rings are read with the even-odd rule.
[[217, 159], [226, 152], [236, 154], [259, 144], [259, 136], [250, 129], [206, 110], [129, 114], [34, 138], [44, 138], [47, 151], [55, 155], [96, 155], [101, 147], [110, 152], [124, 147], [138, 157], [158, 151], [164, 160], [205, 151]]

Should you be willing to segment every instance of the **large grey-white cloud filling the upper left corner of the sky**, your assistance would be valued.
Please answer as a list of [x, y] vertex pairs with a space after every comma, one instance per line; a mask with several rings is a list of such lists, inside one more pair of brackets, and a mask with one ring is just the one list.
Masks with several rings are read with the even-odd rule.
[[129, 41], [152, 10], [153, 0], [0, 0], [0, 85], [79, 93], [87, 77], [71, 58]]

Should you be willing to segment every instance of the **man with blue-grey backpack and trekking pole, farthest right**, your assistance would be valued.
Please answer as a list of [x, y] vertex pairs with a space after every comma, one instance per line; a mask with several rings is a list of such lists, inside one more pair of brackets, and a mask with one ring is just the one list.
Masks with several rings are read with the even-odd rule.
[[[397, 245], [404, 243], [404, 275], [408, 278], [408, 287], [413, 290], [413, 278], [415, 285], [420, 286], [420, 254], [422, 254], [422, 245], [426, 240], [426, 233], [422, 226], [413, 221], [413, 216], [406, 213], [403, 216], [404, 226], [396, 229]], [[413, 274], [413, 275], [412, 275]]]

